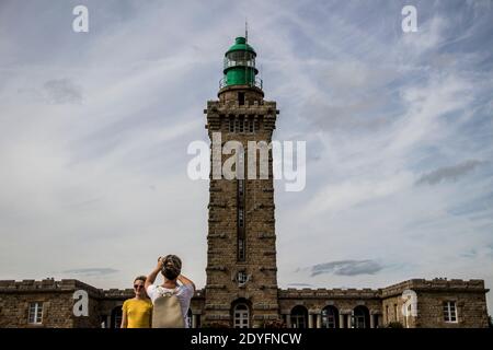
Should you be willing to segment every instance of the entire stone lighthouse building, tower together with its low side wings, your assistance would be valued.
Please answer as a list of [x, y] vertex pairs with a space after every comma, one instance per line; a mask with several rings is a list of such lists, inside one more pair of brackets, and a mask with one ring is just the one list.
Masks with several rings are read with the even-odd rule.
[[[278, 288], [272, 152], [261, 142], [271, 142], [279, 110], [264, 100], [255, 57], [246, 38], [238, 37], [225, 55], [218, 100], [204, 110], [213, 142], [207, 282], [192, 300], [190, 325], [264, 327], [282, 319], [296, 328], [488, 327], [482, 280], [413, 279], [377, 290]], [[253, 170], [241, 176], [249, 160]], [[239, 176], [222, 173], [228, 168]], [[73, 314], [80, 290], [89, 298], [89, 316]], [[128, 298], [131, 290], [77, 280], [0, 281], [0, 327], [118, 327]]]

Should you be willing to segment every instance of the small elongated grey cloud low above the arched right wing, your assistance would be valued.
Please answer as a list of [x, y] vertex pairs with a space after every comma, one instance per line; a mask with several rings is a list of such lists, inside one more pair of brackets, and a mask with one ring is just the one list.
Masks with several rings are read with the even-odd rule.
[[374, 275], [383, 269], [375, 260], [339, 260], [318, 264], [311, 267], [311, 277], [322, 273], [339, 276]]

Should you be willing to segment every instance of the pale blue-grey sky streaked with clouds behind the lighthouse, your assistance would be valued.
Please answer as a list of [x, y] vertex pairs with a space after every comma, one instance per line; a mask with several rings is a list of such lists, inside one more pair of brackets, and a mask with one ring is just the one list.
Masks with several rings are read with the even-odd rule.
[[[71, 31], [66, 1], [1, 5], [0, 278], [95, 264], [119, 271], [70, 273], [123, 288], [169, 249], [204, 285], [208, 183], [187, 178], [186, 145], [207, 140], [202, 109], [248, 15], [265, 97], [280, 109], [274, 137], [307, 140], [317, 160], [302, 192], [276, 190], [279, 285], [316, 272], [313, 288], [445, 275], [493, 287], [480, 249], [493, 244], [493, 163], [460, 186], [415, 186], [439, 166], [491, 159], [489, 2], [423, 2], [406, 34], [403, 4], [389, 1], [88, 5], [89, 35]], [[359, 268], [385, 258], [385, 273], [341, 264], [368, 252]]]

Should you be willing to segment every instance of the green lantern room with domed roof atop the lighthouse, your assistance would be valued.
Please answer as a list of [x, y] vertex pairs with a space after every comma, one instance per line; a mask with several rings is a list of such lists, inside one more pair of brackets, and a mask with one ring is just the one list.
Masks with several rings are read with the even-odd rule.
[[232, 85], [249, 85], [262, 89], [262, 81], [256, 77], [259, 70], [255, 68], [256, 52], [246, 43], [246, 38], [239, 36], [234, 44], [225, 54], [223, 74], [219, 88]]

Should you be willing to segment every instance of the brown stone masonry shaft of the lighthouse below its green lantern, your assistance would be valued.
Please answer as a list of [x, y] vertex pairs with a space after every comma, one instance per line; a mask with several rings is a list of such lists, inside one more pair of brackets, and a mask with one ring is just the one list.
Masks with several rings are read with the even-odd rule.
[[[213, 132], [220, 132], [222, 144], [229, 140], [241, 142], [248, 164], [248, 141], [271, 142], [277, 110], [275, 102], [263, 101], [263, 94], [252, 89], [243, 89], [245, 104], [239, 105], [236, 98], [238, 91], [242, 90], [226, 91], [220, 94], [220, 101], [207, 103], [207, 129], [211, 140]], [[239, 116], [255, 120], [254, 133], [229, 132], [229, 119]], [[230, 156], [221, 155], [221, 165]], [[251, 306], [252, 324], [260, 326], [266, 319], [278, 317], [271, 152], [270, 177], [245, 179], [244, 184], [246, 258], [238, 261], [238, 183], [236, 179], [210, 179], [205, 316], [209, 322], [230, 322], [232, 303], [244, 300]], [[239, 271], [249, 276], [249, 281], [243, 285], [239, 285], [236, 280]]]

